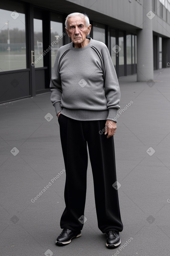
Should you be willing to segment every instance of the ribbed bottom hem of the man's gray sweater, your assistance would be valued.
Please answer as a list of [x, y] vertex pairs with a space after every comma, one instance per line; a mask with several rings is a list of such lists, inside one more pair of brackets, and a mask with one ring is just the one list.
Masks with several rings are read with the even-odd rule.
[[79, 121], [95, 121], [106, 120], [108, 116], [108, 110], [93, 111], [93, 110], [70, 110], [63, 108], [61, 114]]

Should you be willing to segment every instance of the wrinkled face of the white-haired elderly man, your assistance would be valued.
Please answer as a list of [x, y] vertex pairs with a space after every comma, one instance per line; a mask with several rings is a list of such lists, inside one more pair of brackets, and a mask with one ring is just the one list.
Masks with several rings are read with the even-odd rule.
[[86, 36], [90, 33], [91, 25], [86, 27], [84, 16], [76, 16], [68, 18], [68, 29], [66, 28], [68, 36], [74, 44], [79, 45], [84, 43]]

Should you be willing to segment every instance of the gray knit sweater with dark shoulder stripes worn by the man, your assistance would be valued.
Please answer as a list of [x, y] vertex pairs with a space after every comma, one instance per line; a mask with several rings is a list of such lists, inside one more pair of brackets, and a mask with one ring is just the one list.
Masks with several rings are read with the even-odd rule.
[[59, 48], [50, 82], [56, 114], [81, 121], [113, 120], [120, 101], [118, 78], [107, 46], [90, 39], [87, 46], [73, 42]]

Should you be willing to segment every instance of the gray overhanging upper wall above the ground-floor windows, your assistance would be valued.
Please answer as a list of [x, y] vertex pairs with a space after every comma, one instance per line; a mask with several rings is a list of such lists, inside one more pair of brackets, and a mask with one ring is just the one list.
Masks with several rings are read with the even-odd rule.
[[[147, 18], [144, 0], [23, 0], [37, 6], [53, 9], [63, 13], [87, 12], [93, 21], [101, 22], [120, 29], [143, 29]], [[57, 3], [56, 3], [57, 2]], [[160, 5], [160, 2], [157, 1]], [[160, 8], [157, 4], [156, 13]], [[151, 8], [152, 9], [152, 8]], [[170, 37], [170, 13], [166, 23], [157, 15], [153, 18], [153, 31]]]

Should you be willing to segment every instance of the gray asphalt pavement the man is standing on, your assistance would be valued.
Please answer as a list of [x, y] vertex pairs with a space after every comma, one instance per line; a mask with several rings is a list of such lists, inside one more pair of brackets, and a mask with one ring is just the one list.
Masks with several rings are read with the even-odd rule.
[[114, 142], [124, 228], [117, 249], [106, 248], [97, 226], [90, 163], [82, 236], [55, 245], [65, 208], [65, 167], [50, 93], [0, 105], [1, 255], [170, 255], [169, 81], [170, 68], [154, 71], [151, 82], [119, 78]]

